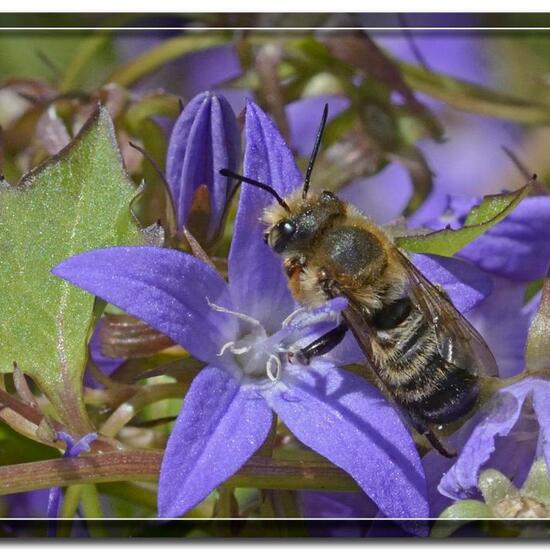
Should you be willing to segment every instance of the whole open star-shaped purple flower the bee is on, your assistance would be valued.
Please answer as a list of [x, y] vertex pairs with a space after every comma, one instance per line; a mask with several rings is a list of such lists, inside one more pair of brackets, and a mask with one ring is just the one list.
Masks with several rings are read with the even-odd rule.
[[[302, 177], [254, 103], [245, 130], [245, 175], [287, 195]], [[184, 514], [233, 475], [264, 442], [274, 411], [303, 444], [347, 471], [386, 516], [426, 517], [418, 452], [394, 408], [364, 379], [335, 368], [334, 358], [308, 366], [287, 359], [288, 350], [334, 326], [346, 302], [296, 313], [281, 262], [261, 238], [258, 218], [270, 200], [253, 187], [241, 193], [229, 284], [192, 256], [150, 247], [96, 250], [53, 270], [208, 364], [167, 444], [159, 514]]]

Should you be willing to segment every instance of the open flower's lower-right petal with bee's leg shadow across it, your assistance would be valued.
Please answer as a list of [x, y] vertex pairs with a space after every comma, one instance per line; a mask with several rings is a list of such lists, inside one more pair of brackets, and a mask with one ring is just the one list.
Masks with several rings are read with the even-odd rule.
[[[350, 474], [388, 517], [427, 517], [426, 481], [397, 412], [362, 378], [321, 362], [286, 373], [268, 396], [302, 443]], [[326, 364], [323, 368], [326, 368]], [[290, 371], [290, 369], [287, 369]]]

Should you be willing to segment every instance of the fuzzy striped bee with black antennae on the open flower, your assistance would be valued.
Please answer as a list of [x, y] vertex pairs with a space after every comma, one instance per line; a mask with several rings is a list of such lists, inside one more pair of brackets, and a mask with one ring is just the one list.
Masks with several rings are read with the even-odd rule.
[[437, 427], [475, 405], [482, 376], [495, 359], [450, 299], [400, 250], [390, 233], [330, 191], [309, 192], [328, 114], [325, 106], [304, 184], [288, 197], [270, 186], [222, 170], [276, 199], [263, 213], [265, 242], [282, 256], [289, 288], [309, 307], [344, 296], [333, 330], [294, 354], [301, 363], [328, 353], [351, 331], [382, 392], [412, 426], [447, 457]]

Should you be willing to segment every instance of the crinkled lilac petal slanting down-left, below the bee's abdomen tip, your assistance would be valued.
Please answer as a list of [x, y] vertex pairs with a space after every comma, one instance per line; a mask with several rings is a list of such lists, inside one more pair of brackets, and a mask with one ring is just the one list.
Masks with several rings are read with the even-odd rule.
[[528, 379], [495, 394], [490, 409], [480, 415], [483, 418], [473, 429], [458, 460], [441, 479], [438, 486], [440, 493], [453, 499], [475, 494], [481, 467], [495, 450], [495, 438], [510, 433], [532, 389], [533, 380]]

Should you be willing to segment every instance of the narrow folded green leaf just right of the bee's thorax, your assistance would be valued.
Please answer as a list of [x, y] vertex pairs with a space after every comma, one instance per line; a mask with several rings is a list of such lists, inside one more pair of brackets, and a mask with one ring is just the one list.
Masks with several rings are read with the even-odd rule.
[[397, 237], [395, 242], [409, 252], [453, 256], [506, 218], [530, 189], [531, 186], [528, 184], [511, 193], [484, 197], [478, 206], [472, 208], [466, 218], [464, 227], [460, 229], [441, 229], [432, 233], [406, 235]]

